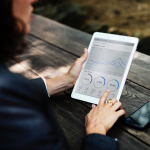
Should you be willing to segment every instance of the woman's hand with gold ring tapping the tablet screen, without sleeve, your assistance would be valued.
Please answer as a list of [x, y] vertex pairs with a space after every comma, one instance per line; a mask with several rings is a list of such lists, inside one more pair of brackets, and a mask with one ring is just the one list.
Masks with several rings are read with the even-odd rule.
[[[118, 118], [125, 115], [121, 102], [112, 99], [112, 103], [106, 103], [110, 91], [106, 91], [97, 106], [92, 105], [92, 110], [85, 117], [86, 134], [99, 133], [106, 135]], [[120, 108], [120, 110], [118, 110]], [[118, 111], [117, 111], [118, 110]]]

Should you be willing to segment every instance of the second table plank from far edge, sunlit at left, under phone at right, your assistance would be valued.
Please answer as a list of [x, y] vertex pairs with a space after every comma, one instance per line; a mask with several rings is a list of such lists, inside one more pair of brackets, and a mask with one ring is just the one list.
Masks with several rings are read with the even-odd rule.
[[[34, 70], [40, 75], [43, 75], [43, 72], [45, 72], [44, 76], [47, 77], [63, 75], [64, 70], [59, 70], [58, 68], [64, 68], [65, 66], [67, 66], [65, 70], [67, 71], [67, 69], [69, 68], [68, 66], [70, 66], [72, 62], [74, 62], [76, 59], [75, 56], [72, 56], [67, 52], [61, 51], [48, 43], [37, 40], [32, 36], [28, 36], [28, 41], [32, 42], [32, 51], [26, 55], [21, 56], [20, 58], [23, 59], [23, 61], [30, 60], [30, 63], [26, 64], [25, 66], [29, 67], [30, 69]], [[56, 59], [59, 60], [58, 63]], [[142, 104], [148, 101], [149, 96], [149, 90], [146, 90], [136, 84], [127, 81], [121, 97], [121, 101], [123, 102], [123, 106], [127, 112], [127, 115], [131, 114]], [[146, 141], [149, 144], [149, 130], [150, 129], [147, 129], [144, 132], [142, 132], [145, 138], [143, 138], [143, 135], [141, 136], [141, 134], [139, 134], [138, 131], [132, 133], [133, 130], [131, 130], [130, 133], [134, 134], [134, 136], [137, 136], [139, 139]]]

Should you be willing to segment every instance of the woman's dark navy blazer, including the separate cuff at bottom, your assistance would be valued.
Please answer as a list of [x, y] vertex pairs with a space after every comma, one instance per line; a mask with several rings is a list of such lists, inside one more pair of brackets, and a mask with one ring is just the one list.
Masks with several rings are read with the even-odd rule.
[[[36, 86], [34, 86], [34, 84]], [[0, 150], [68, 150], [66, 139], [48, 105], [41, 78], [29, 81], [0, 64]], [[82, 150], [115, 150], [117, 142], [91, 134]]]

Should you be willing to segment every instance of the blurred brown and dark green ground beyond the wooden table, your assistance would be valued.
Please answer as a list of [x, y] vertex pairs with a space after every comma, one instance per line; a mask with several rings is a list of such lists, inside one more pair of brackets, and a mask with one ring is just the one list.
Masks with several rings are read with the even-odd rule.
[[93, 34], [138, 37], [138, 51], [150, 55], [150, 0], [38, 0], [34, 13]]

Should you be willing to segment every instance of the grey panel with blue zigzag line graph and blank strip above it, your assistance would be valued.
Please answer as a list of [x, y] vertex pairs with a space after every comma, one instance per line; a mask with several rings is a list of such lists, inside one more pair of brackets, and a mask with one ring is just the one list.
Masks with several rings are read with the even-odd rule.
[[92, 48], [85, 69], [123, 76], [129, 56], [126, 51]]

